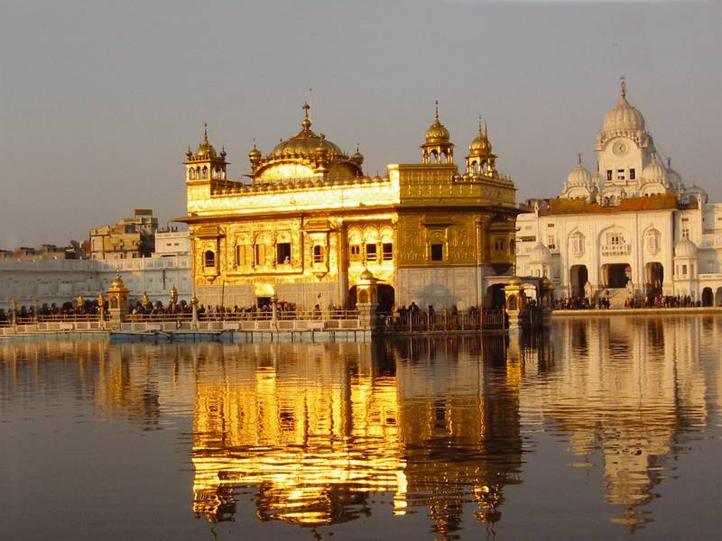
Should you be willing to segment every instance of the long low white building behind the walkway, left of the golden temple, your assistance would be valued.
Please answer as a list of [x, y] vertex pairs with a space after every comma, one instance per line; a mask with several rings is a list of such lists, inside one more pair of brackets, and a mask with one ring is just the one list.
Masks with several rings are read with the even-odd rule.
[[12, 298], [18, 307], [32, 307], [36, 298], [39, 306], [60, 306], [79, 295], [97, 298], [100, 291], [105, 295], [116, 271], [120, 271], [132, 299], [147, 292], [153, 302], [166, 304], [175, 286], [180, 300], [190, 301], [188, 232], [159, 233], [155, 242], [162, 246], [160, 252], [146, 258], [0, 261], [0, 308], [7, 309]]

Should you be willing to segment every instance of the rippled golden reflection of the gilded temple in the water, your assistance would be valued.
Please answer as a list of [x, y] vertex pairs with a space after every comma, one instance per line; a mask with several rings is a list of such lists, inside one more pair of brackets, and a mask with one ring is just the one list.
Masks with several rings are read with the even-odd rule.
[[259, 518], [309, 526], [366, 512], [369, 492], [393, 493], [397, 515], [429, 506], [439, 533], [457, 529], [465, 501], [480, 520], [499, 518], [521, 463], [517, 379], [507, 386], [503, 358], [493, 367], [443, 342], [379, 356], [371, 344], [310, 347], [226, 348], [199, 362], [197, 512], [230, 518], [232, 487], [253, 485]]

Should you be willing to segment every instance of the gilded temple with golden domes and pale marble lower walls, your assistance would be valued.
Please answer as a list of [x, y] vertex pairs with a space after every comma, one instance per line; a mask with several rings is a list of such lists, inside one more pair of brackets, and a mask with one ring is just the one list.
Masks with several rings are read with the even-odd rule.
[[227, 178], [227, 154], [208, 141], [186, 153], [187, 215], [195, 294], [201, 303], [262, 304], [278, 298], [310, 309], [352, 308], [365, 270], [378, 280], [379, 309], [393, 304], [459, 309], [485, 304], [485, 278], [514, 261], [514, 183], [496, 169], [486, 125], [466, 168], [439, 111], [421, 163], [390, 164], [370, 177], [311, 130], [264, 155], [248, 153], [243, 180]]

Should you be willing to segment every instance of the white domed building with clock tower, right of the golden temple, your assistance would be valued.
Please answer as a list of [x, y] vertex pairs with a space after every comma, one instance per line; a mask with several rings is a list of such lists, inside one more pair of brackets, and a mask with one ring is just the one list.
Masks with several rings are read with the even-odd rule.
[[532, 199], [517, 217], [517, 273], [546, 275], [558, 297], [608, 290], [616, 306], [633, 292], [720, 305], [722, 203], [661, 160], [624, 80], [595, 151], [596, 172], [579, 157], [560, 197]]

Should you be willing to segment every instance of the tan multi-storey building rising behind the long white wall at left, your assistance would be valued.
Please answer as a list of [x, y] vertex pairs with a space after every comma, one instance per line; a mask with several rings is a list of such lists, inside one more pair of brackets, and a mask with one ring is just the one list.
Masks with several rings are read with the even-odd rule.
[[132, 218], [123, 218], [116, 225], [102, 225], [90, 230], [90, 258], [101, 260], [150, 257], [158, 230], [153, 210], [135, 209]]

